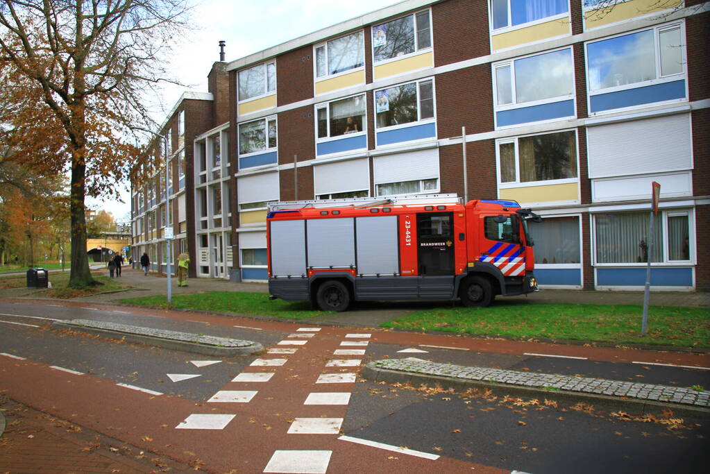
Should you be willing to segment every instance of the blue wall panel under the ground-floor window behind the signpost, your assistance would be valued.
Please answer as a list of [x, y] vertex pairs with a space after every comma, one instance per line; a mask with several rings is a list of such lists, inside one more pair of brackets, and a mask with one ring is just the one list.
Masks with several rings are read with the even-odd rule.
[[[643, 287], [646, 284], [646, 268], [597, 268], [596, 284], [609, 287]], [[693, 269], [651, 268], [651, 286], [692, 287]]]

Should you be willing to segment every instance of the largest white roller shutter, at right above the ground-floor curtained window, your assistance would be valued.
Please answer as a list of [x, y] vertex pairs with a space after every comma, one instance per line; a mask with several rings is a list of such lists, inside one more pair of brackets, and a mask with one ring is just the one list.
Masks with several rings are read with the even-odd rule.
[[589, 126], [586, 143], [590, 178], [693, 167], [690, 114]]

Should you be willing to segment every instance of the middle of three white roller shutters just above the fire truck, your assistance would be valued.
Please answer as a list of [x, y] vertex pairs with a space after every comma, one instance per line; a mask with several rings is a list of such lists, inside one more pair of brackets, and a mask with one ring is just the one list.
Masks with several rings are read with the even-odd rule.
[[314, 165], [313, 189], [316, 195], [370, 189], [368, 158]]

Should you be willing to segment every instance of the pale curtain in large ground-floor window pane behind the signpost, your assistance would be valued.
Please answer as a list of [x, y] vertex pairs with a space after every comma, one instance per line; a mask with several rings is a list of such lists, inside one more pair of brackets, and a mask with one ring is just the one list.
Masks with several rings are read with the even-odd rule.
[[[603, 214], [596, 219], [597, 263], [646, 263], [648, 212]], [[652, 262], [662, 261], [662, 219], [654, 221]]]

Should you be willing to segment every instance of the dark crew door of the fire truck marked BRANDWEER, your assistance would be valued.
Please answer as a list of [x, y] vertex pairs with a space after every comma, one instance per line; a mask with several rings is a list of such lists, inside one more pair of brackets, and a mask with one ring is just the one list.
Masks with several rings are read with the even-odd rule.
[[454, 215], [417, 214], [419, 297], [450, 298], [454, 294]]

